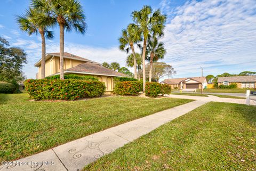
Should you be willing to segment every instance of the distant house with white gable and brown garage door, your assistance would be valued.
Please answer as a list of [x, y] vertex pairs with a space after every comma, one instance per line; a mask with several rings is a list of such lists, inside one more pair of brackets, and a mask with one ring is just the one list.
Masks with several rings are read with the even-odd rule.
[[161, 83], [168, 84], [172, 88], [178, 87], [179, 89], [201, 88], [202, 83], [203, 88], [207, 86], [207, 81], [205, 77], [171, 78], [165, 79]]

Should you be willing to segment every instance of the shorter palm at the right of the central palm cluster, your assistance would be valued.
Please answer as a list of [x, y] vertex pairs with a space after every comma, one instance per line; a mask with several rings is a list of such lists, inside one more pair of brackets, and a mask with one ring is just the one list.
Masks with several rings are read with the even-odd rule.
[[146, 54], [147, 54], [147, 60], [149, 61], [149, 64], [150, 64], [148, 81], [151, 82], [153, 61], [157, 62], [159, 59], [163, 59], [164, 55], [166, 54], [164, 43], [158, 42], [158, 39], [155, 36], [149, 36]]

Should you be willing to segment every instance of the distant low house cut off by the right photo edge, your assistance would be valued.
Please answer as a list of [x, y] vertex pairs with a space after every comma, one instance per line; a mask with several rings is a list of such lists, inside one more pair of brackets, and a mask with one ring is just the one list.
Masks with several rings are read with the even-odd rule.
[[256, 88], [256, 76], [219, 77], [218, 85], [236, 83], [237, 88]]

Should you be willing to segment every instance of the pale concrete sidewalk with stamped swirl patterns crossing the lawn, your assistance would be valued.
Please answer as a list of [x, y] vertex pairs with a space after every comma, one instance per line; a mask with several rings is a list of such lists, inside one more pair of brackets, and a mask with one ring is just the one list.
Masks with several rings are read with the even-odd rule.
[[[183, 95], [179, 95], [179, 98], [183, 98]], [[136, 119], [33, 156], [14, 161], [13, 164], [2, 165], [0, 166], [0, 171], [81, 170], [85, 165], [90, 164], [90, 162], [115, 151], [126, 143], [138, 139], [138, 137], [153, 131], [157, 127], [179, 116], [185, 115], [187, 112], [207, 102], [206, 100], [197, 100], [157, 112], [153, 115]]]

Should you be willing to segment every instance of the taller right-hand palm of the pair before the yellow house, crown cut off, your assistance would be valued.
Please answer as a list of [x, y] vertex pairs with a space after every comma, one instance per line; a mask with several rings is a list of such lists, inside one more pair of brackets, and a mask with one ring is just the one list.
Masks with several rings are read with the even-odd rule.
[[60, 28], [60, 79], [64, 79], [63, 53], [64, 31], [76, 30], [85, 34], [85, 15], [78, 0], [33, 0], [32, 5], [39, 11], [51, 13]]

